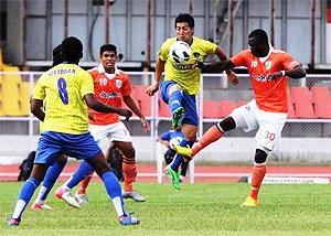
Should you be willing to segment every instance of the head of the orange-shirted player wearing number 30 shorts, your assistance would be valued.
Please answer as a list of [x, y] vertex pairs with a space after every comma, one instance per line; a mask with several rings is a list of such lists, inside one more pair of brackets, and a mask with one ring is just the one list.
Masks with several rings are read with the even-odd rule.
[[264, 57], [269, 53], [269, 40], [266, 31], [254, 30], [248, 35], [248, 45], [253, 55]]

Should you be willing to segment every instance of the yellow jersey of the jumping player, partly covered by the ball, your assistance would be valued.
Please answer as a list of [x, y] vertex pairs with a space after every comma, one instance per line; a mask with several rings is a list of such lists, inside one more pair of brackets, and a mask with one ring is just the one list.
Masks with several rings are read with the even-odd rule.
[[201, 69], [197, 67], [192, 68], [192, 65], [196, 61], [203, 62], [207, 54], [214, 54], [217, 45], [193, 36], [193, 43], [191, 45], [192, 55], [190, 60], [183, 63], [175, 63], [172, 57], [169, 56], [169, 49], [175, 41], [177, 37], [168, 39], [158, 53], [159, 58], [166, 62], [164, 81], [177, 82], [179, 86], [190, 95], [199, 94]]

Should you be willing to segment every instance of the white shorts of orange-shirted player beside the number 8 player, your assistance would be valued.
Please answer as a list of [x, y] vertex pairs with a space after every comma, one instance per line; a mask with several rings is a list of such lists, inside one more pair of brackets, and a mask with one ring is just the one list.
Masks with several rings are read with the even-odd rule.
[[113, 141], [132, 142], [129, 130], [121, 121], [106, 126], [89, 125], [89, 132], [104, 153]]

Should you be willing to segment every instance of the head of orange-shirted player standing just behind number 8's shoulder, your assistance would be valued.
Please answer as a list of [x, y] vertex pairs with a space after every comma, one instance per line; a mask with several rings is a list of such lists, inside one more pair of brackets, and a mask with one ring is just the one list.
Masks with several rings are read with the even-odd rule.
[[105, 44], [100, 46], [99, 60], [107, 73], [115, 72], [117, 58], [117, 47], [114, 44]]

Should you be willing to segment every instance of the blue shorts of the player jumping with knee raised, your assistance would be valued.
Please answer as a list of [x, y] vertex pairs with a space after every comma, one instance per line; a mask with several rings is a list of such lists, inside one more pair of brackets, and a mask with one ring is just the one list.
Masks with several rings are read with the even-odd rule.
[[[172, 81], [162, 81], [160, 83], [160, 92], [162, 100], [168, 104], [169, 101], [169, 89], [173, 85], [177, 85], [175, 82]], [[189, 95], [186, 92], [183, 92], [182, 107], [184, 108], [184, 117], [182, 119], [182, 124], [188, 124], [192, 126], [197, 126], [197, 111], [196, 111], [196, 100], [195, 95]]]

